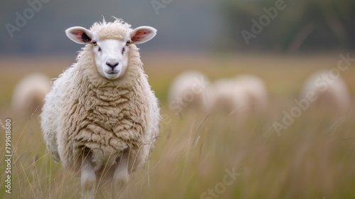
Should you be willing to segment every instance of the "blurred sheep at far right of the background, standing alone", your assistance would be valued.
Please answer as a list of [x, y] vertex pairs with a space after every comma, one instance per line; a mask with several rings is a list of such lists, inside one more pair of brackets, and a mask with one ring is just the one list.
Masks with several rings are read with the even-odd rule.
[[325, 114], [339, 117], [349, 110], [351, 97], [342, 77], [332, 70], [320, 70], [309, 77], [302, 87], [302, 99], [307, 99], [311, 109], [322, 110]]

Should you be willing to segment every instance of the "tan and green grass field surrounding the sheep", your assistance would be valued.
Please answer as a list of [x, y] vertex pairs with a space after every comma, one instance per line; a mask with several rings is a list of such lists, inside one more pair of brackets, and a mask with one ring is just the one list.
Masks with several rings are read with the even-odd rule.
[[[143, 53], [144, 54], [144, 53]], [[355, 198], [355, 112], [332, 119], [307, 109], [276, 133], [283, 111], [295, 106], [302, 83], [316, 70], [337, 68], [334, 55], [168, 55], [142, 57], [161, 103], [160, 137], [146, 167], [130, 176], [122, 198]], [[18, 118], [9, 104], [16, 82], [30, 72], [57, 77], [74, 58], [0, 60], [0, 119], [12, 119], [11, 194], [6, 193], [5, 134], [0, 136], [0, 198], [79, 198], [80, 179], [45, 151], [37, 110]], [[265, 115], [195, 111], [175, 115], [166, 95], [175, 75], [200, 70], [210, 80], [254, 74], [266, 82]], [[355, 68], [340, 73], [355, 96]], [[353, 100], [354, 102], [354, 100]], [[107, 198], [102, 191], [97, 198]]]

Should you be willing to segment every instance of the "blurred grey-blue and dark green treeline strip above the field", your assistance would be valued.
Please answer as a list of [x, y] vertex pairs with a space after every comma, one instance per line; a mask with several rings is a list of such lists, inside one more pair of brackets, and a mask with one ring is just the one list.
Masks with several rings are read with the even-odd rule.
[[[9, 36], [5, 24], [16, 26], [17, 14], [30, 9], [28, 2], [43, 1], [39, 11]], [[152, 2], [163, 5], [157, 10]], [[355, 49], [354, 0], [285, 0], [268, 26], [249, 45], [241, 31], [251, 31], [256, 21], [282, 0], [27, 0], [0, 1], [0, 55], [31, 53], [73, 55], [78, 45], [67, 40], [65, 29], [89, 26], [104, 16], [124, 18], [136, 26], [158, 29], [154, 43], [141, 48], [155, 51], [307, 52]]]

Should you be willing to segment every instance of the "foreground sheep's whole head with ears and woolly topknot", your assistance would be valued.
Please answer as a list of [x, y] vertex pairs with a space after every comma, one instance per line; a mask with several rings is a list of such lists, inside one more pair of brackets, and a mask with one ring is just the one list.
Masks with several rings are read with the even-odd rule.
[[[116, 22], [116, 21], [115, 21]], [[68, 28], [65, 33], [72, 41], [92, 45], [95, 65], [99, 75], [115, 80], [124, 75], [129, 64], [129, 45], [145, 43], [156, 34], [155, 28], [141, 26], [129, 28], [129, 24], [94, 23], [87, 30], [82, 27]]]

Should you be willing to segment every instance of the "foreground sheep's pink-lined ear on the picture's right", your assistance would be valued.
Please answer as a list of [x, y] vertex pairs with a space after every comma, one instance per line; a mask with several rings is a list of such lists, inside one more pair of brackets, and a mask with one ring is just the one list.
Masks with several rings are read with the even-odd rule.
[[150, 26], [140, 26], [132, 30], [129, 35], [131, 36], [131, 43], [145, 43], [156, 35], [156, 29]]

